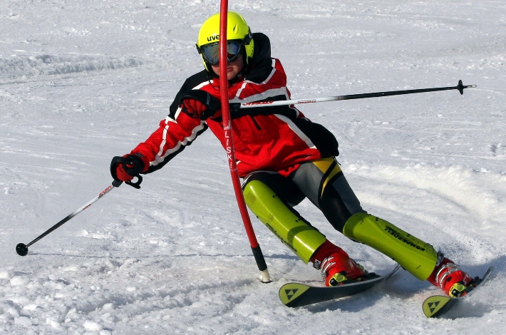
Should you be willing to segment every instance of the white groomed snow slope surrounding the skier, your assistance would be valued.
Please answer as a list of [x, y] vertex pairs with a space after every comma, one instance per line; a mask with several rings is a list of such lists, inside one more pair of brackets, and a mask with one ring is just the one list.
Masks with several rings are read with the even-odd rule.
[[[288, 309], [279, 287], [321, 284], [256, 218], [262, 284], [227, 156], [205, 133], [135, 190], [109, 163], [165, 118], [200, 71], [200, 24], [219, 1], [5, 0], [0, 4], [0, 334], [504, 334], [505, 1], [230, 1], [272, 39], [293, 98], [475, 84], [458, 91], [301, 105], [339, 139], [363, 207], [443, 249], [489, 284], [425, 319], [438, 292], [402, 271], [342, 301]], [[299, 210], [367, 269], [393, 261]], [[451, 316], [451, 315], [450, 315]]]

